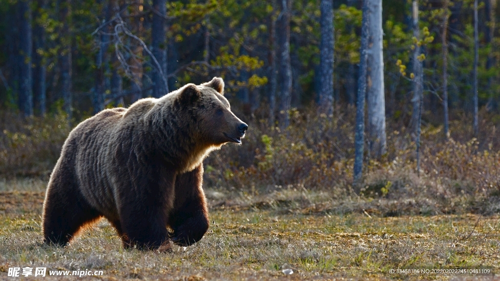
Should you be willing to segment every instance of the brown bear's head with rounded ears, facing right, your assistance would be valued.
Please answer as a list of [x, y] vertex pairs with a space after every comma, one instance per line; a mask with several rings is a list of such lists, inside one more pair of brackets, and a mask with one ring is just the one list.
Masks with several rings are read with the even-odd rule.
[[232, 113], [229, 101], [223, 96], [222, 78], [213, 77], [200, 85], [187, 84], [180, 90], [179, 101], [189, 109], [203, 142], [215, 146], [241, 143], [248, 125]]

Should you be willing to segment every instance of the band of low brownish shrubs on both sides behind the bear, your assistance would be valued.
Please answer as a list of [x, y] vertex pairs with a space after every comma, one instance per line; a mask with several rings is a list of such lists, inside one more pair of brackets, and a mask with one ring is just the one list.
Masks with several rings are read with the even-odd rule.
[[[420, 176], [415, 171], [413, 137], [401, 120], [388, 120], [387, 153], [376, 159], [366, 152], [363, 180], [353, 186], [354, 110], [335, 112], [330, 118], [314, 110], [292, 110], [290, 126], [284, 130], [263, 119], [250, 120], [241, 145], [227, 144], [205, 159], [205, 186], [269, 194], [269, 198], [283, 188], [327, 192], [332, 201], [326, 205], [331, 209], [359, 207], [384, 215], [500, 210], [500, 138], [495, 115], [482, 114], [478, 138], [471, 137], [465, 115], [458, 114], [461, 119], [451, 123], [449, 139], [440, 126], [423, 126]], [[1, 117], [1, 177], [46, 179], [70, 131], [65, 116], [26, 120], [2, 113]]]

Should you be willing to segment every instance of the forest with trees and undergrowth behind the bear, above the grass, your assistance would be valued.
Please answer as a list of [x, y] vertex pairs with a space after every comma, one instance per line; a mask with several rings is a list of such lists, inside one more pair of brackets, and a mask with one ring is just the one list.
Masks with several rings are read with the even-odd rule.
[[79, 121], [221, 76], [250, 129], [206, 184], [480, 205], [500, 194], [496, 2], [1, 0], [0, 176], [47, 178]]

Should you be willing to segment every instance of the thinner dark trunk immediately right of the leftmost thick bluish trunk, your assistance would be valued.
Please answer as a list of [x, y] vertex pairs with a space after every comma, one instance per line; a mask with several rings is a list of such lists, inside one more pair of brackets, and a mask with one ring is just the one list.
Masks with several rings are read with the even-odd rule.
[[[34, 18], [39, 19], [41, 12], [46, 8], [46, 0], [37, 0]], [[33, 30], [33, 105], [36, 115], [43, 116], [46, 112], [46, 64], [43, 58], [45, 49], [45, 29], [40, 22], [36, 22]]]

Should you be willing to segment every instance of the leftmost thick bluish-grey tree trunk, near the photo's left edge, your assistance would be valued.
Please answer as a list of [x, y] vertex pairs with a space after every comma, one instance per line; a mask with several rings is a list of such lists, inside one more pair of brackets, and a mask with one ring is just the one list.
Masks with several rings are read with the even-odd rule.
[[20, 86], [19, 86], [19, 109], [24, 116], [33, 115], [33, 92], [31, 73], [31, 51], [33, 48], [31, 40], [31, 7], [28, 0], [19, 0], [20, 12]]

